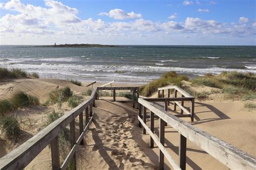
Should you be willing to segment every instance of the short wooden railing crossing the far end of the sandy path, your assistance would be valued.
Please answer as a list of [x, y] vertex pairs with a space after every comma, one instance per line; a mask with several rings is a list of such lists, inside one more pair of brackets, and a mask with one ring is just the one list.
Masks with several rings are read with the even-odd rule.
[[[97, 95], [96, 95], [96, 100], [99, 99], [99, 91], [100, 90], [111, 90], [113, 91], [113, 101], [116, 102], [116, 91], [117, 90], [122, 90], [122, 91], [131, 91], [132, 93], [132, 100], [127, 100], [127, 101], [117, 101], [117, 102], [123, 102], [123, 103], [132, 103], [133, 108], [138, 107], [138, 97], [139, 97], [139, 87], [98, 87], [97, 88]], [[137, 108], [136, 107], [136, 108]]]

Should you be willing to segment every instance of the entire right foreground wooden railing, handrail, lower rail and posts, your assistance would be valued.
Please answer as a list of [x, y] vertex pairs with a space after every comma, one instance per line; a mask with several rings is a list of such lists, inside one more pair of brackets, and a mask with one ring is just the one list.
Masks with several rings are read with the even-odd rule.
[[[235, 148], [219, 138], [201, 131], [180, 118], [169, 114], [169, 112], [157, 104], [150, 103], [143, 98], [139, 98], [138, 103], [138, 120], [143, 126], [143, 133], [145, 134], [147, 131], [147, 133], [150, 134], [150, 147], [153, 147], [154, 143], [156, 143], [160, 149], [159, 169], [164, 169], [164, 157], [166, 157], [174, 169], [186, 169], [187, 139], [192, 141], [192, 143], [199, 146], [208, 154], [212, 155], [215, 159], [222, 162], [228, 168], [256, 169], [256, 159], [251, 155], [238, 150], [238, 148]], [[146, 125], [147, 109], [150, 111], [150, 128]], [[143, 117], [141, 117], [142, 112]], [[157, 115], [160, 118], [159, 138], [154, 134], [154, 115]], [[164, 146], [165, 122], [180, 133], [178, 164], [174, 161], [171, 154], [167, 152]]]

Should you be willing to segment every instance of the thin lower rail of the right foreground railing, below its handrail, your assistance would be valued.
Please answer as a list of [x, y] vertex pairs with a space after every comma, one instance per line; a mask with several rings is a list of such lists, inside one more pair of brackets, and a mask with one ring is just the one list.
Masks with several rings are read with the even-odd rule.
[[173, 167], [173, 169], [180, 169], [180, 167], [178, 166], [178, 164], [176, 164], [176, 162], [174, 161], [174, 159], [172, 158], [171, 154], [166, 150], [166, 148], [160, 143], [158, 137], [156, 135], [154, 135], [154, 133], [149, 129], [149, 127], [147, 127], [147, 125], [143, 122], [142, 118], [138, 117], [138, 120], [140, 123], [142, 123], [143, 127], [145, 127], [147, 133], [150, 134], [150, 136], [153, 138], [154, 143], [156, 143], [156, 145], [159, 147], [159, 150], [161, 150], [164, 155], [165, 158], [170, 162], [171, 166]]

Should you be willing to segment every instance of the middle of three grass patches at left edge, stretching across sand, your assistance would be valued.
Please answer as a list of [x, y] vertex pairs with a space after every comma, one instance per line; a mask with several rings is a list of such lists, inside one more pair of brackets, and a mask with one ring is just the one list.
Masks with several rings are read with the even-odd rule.
[[39, 98], [36, 96], [31, 96], [23, 91], [18, 91], [9, 100], [0, 100], [0, 114], [12, 111], [19, 107], [24, 107], [29, 104], [39, 105]]

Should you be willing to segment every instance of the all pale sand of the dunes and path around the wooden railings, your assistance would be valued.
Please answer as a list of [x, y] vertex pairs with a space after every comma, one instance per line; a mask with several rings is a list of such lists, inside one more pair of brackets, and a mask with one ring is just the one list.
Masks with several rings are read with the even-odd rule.
[[[84, 82], [80, 87], [58, 79], [6, 79], [0, 83], [0, 96], [8, 98], [16, 91], [22, 90], [27, 94], [39, 97], [43, 103], [52, 90], [66, 86], [69, 86], [74, 94], [82, 95], [86, 90], [86, 84], [89, 83]], [[96, 83], [93, 86], [101, 84]], [[136, 85], [113, 83], [112, 86]], [[211, 88], [201, 86], [197, 90], [211, 90]], [[154, 96], [156, 94], [152, 95], [152, 97]], [[138, 127], [137, 109], [133, 109], [131, 104], [111, 101], [112, 97], [100, 97], [100, 100], [96, 101], [96, 108], [93, 108], [93, 112], [96, 114], [95, 121], [86, 134], [85, 145], [79, 146], [77, 153], [78, 169], [157, 169], [159, 148], [149, 147], [149, 135], [143, 134], [142, 129]], [[195, 121], [191, 124], [255, 157], [255, 110], [248, 111], [243, 108], [243, 104], [242, 101], [225, 100], [221, 98], [221, 94], [211, 95], [204, 101], [196, 100]], [[185, 106], [189, 108], [186, 102]], [[55, 104], [47, 107], [43, 105], [29, 106], [9, 112], [6, 116], [15, 115], [22, 124], [22, 134], [16, 144], [1, 139], [1, 157], [42, 130], [47, 115], [53, 109], [59, 110]], [[169, 109], [173, 110], [172, 104]], [[70, 108], [64, 103], [61, 110], [66, 112]], [[190, 118], [183, 119], [190, 122]], [[159, 135], [159, 119], [155, 119], [154, 124], [155, 132]], [[177, 131], [171, 126], [167, 126], [165, 128], [165, 147], [176, 161], [178, 161], [178, 146]], [[46, 147], [26, 169], [42, 167], [50, 169], [50, 155], [49, 147]], [[223, 164], [190, 141], [187, 142], [187, 158], [187, 169], [226, 169]], [[165, 168], [172, 169], [167, 160]]]

